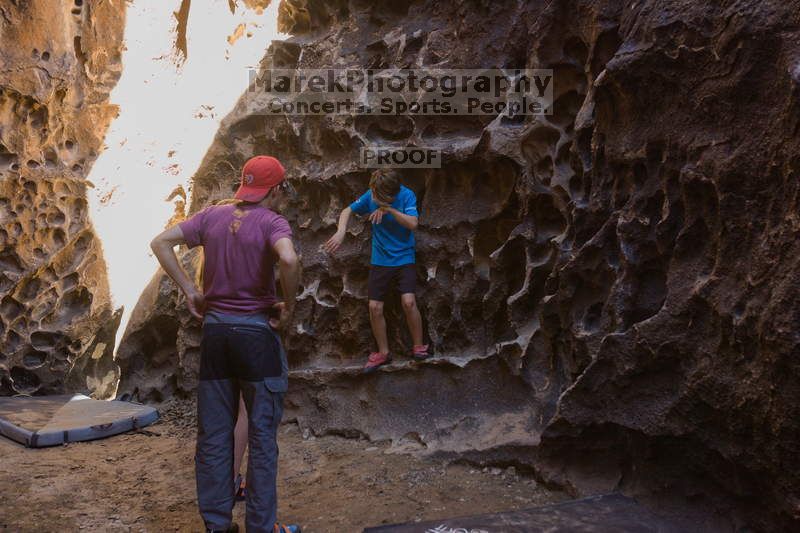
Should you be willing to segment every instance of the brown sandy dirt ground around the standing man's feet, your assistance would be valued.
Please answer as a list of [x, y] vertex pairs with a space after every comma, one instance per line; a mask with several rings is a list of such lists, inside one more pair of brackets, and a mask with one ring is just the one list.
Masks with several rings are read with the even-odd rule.
[[[194, 406], [138, 433], [27, 449], [0, 437], [0, 531], [202, 531]], [[387, 453], [388, 444], [280, 429], [279, 518], [306, 533], [532, 507], [565, 495], [513, 469]], [[244, 504], [234, 519], [244, 525]]]

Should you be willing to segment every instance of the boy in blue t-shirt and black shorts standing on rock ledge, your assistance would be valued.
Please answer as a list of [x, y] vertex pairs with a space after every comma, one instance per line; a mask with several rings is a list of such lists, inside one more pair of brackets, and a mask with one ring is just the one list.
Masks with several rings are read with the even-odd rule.
[[417, 286], [414, 231], [417, 229], [417, 197], [400, 184], [394, 171], [378, 171], [372, 175], [369, 190], [346, 207], [339, 215], [336, 233], [325, 243], [325, 250], [334, 253], [347, 234], [350, 214], [369, 215], [372, 223], [372, 257], [369, 270], [369, 320], [378, 350], [369, 354], [364, 372], [373, 372], [392, 361], [383, 301], [387, 292], [397, 286], [403, 311], [413, 341], [412, 356], [417, 360], [430, 357], [428, 345], [422, 344], [422, 317], [414, 291]]

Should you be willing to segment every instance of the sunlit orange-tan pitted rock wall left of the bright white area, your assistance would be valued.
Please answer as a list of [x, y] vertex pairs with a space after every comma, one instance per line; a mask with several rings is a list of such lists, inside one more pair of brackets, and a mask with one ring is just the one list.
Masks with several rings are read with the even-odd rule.
[[119, 313], [89, 221], [125, 2], [0, 2], [0, 395], [113, 394]]

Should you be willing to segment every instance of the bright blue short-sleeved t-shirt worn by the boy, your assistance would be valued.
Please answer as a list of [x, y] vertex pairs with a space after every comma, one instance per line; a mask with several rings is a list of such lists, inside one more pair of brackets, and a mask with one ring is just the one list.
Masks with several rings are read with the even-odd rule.
[[[409, 216], [417, 214], [417, 197], [414, 192], [400, 186], [392, 207]], [[350, 209], [357, 215], [368, 215], [378, 204], [372, 199], [372, 191], [362, 194], [358, 200], [350, 204]], [[372, 225], [372, 264], [378, 266], [401, 266], [413, 264], [414, 232], [401, 226], [389, 213], [383, 215], [380, 224]]]

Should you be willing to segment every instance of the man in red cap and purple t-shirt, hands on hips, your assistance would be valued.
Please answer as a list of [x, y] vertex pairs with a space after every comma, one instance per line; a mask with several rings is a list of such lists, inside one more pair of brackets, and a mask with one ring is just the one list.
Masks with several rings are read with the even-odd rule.
[[[288, 386], [288, 365], [275, 330], [294, 311], [299, 262], [292, 230], [275, 212], [291, 189], [274, 157], [245, 163], [234, 199], [206, 207], [151, 243], [161, 266], [203, 321], [197, 387], [197, 500], [208, 531], [238, 531], [235, 501], [234, 423], [240, 395], [247, 410], [247, 531], [297, 533], [277, 524], [277, 428]], [[180, 266], [173, 247], [203, 246], [203, 291]], [[284, 301], [278, 303], [277, 262]], [[269, 318], [277, 309], [279, 317]]]

